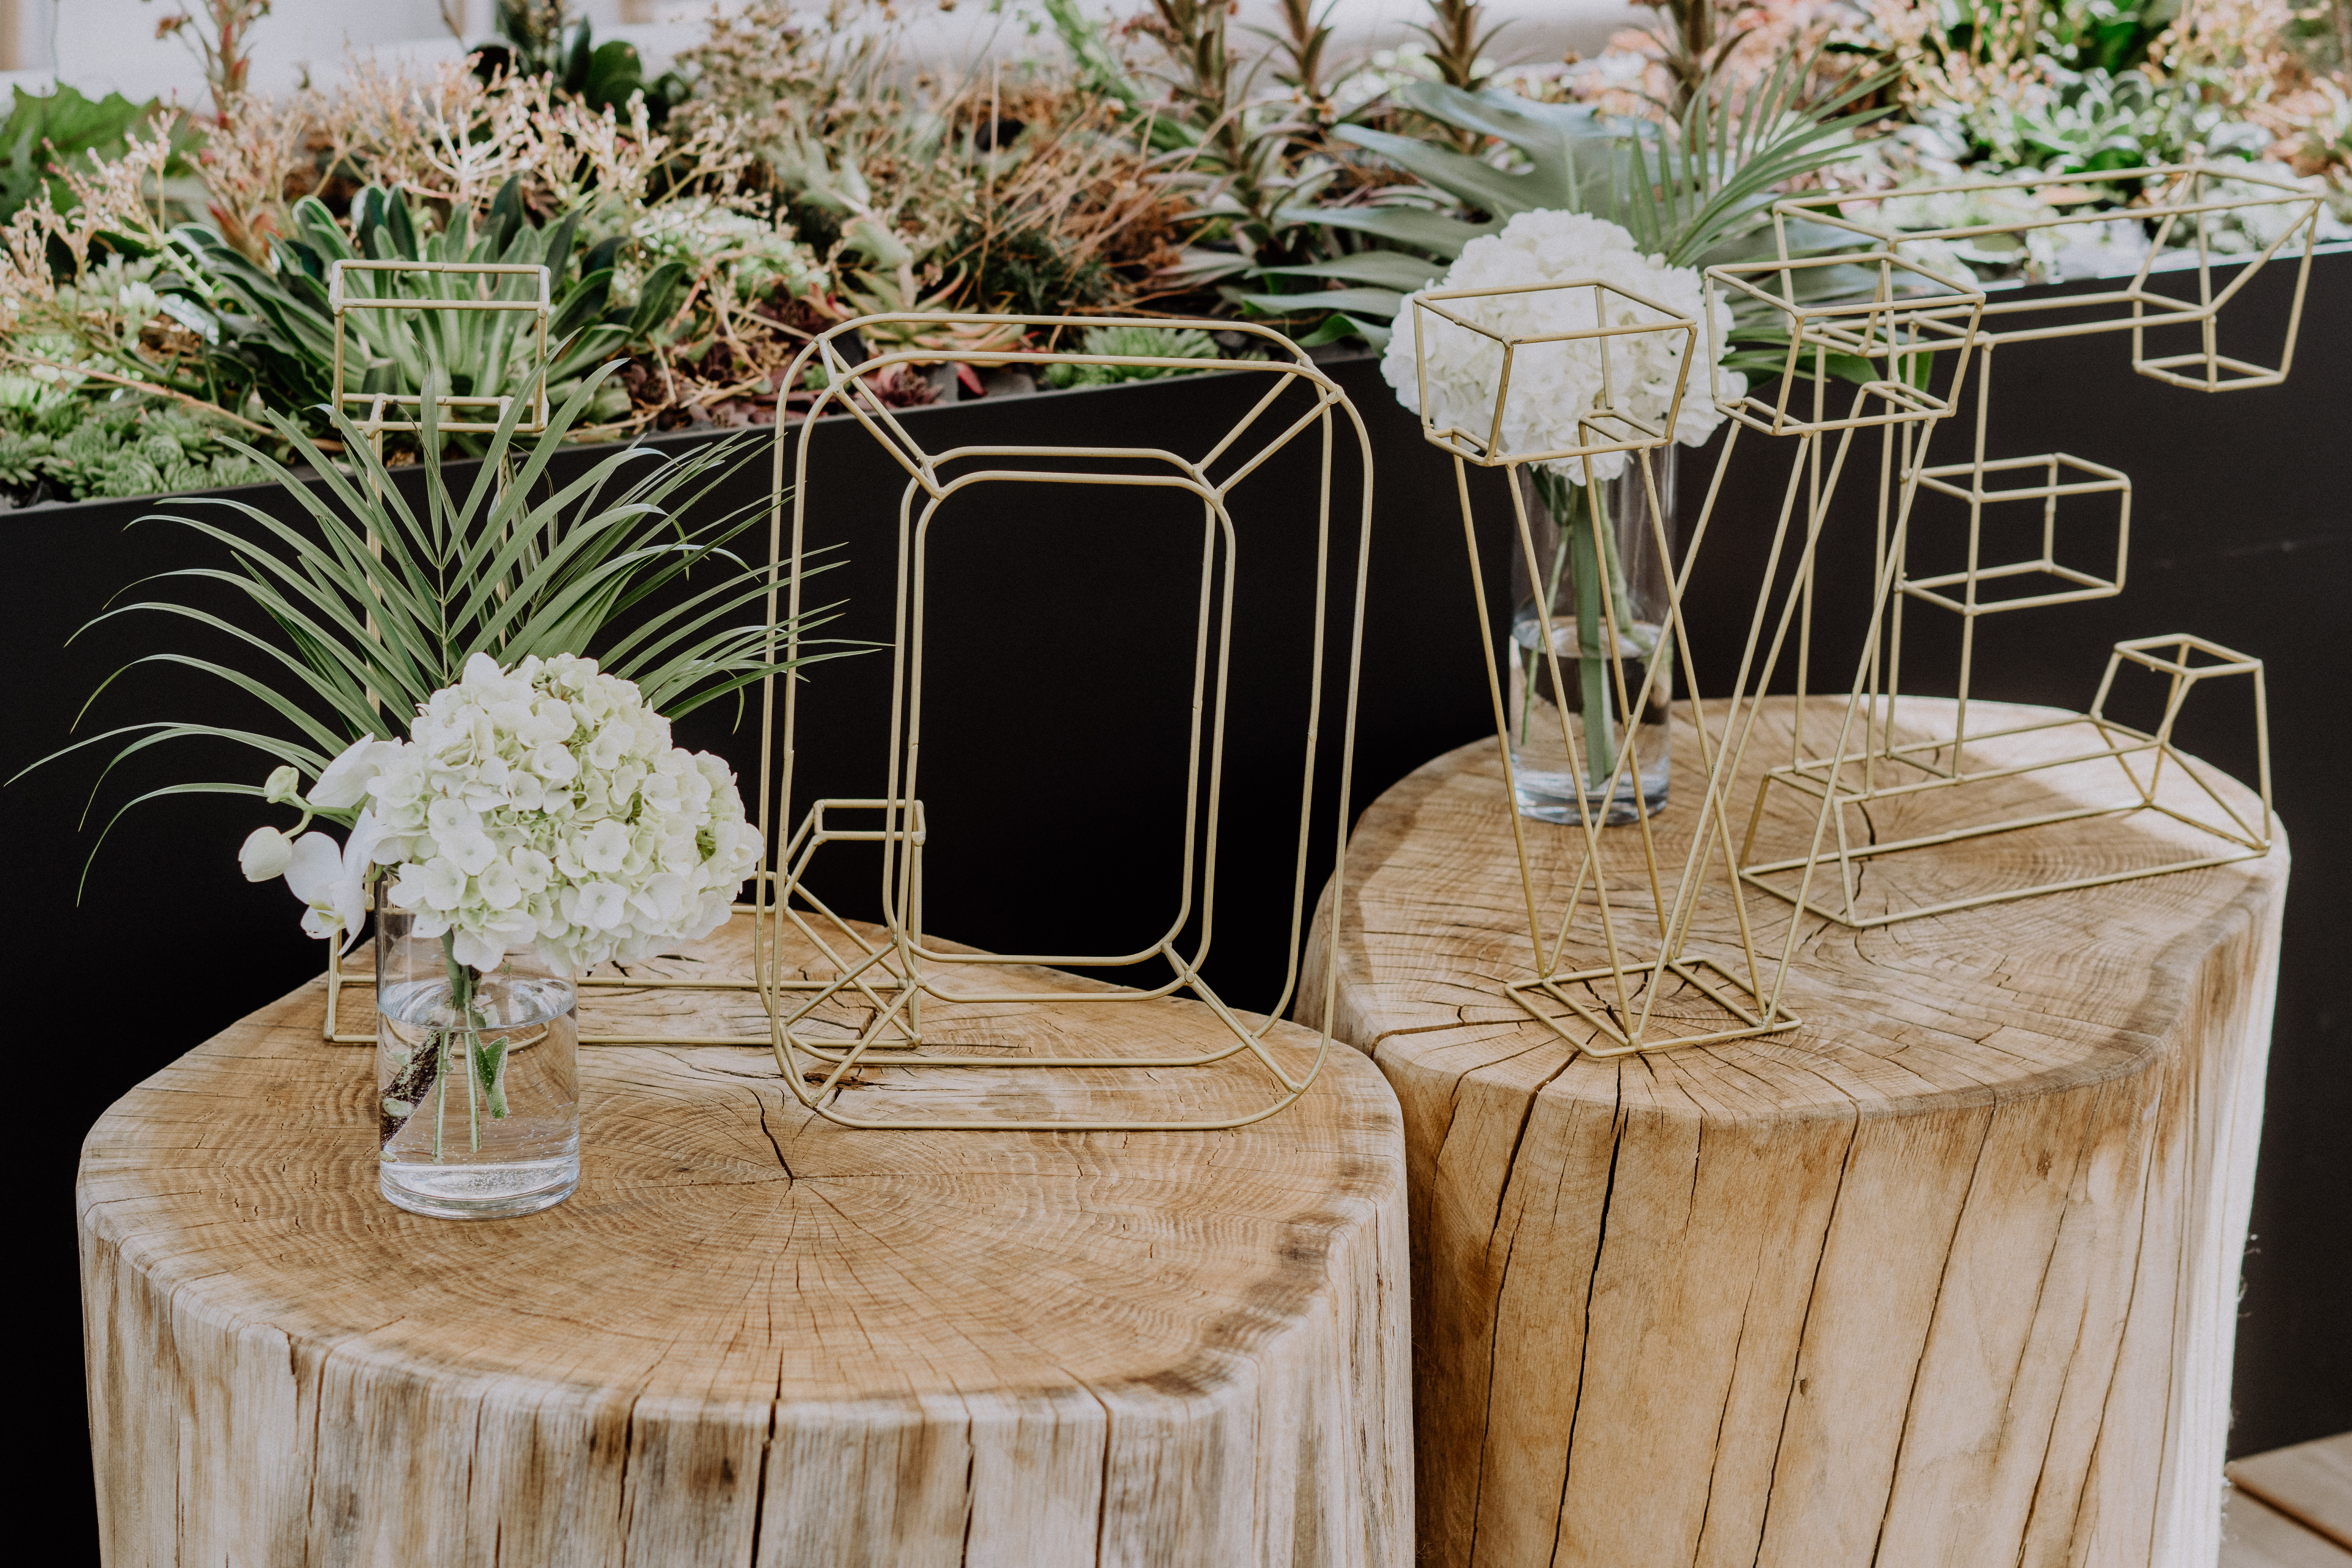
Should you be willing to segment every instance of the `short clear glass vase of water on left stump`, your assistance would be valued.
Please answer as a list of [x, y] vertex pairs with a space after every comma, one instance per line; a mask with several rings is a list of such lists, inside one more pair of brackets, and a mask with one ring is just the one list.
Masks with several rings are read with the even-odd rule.
[[494, 1220], [581, 1178], [579, 992], [532, 952], [482, 973], [376, 889], [376, 1185], [412, 1213]]

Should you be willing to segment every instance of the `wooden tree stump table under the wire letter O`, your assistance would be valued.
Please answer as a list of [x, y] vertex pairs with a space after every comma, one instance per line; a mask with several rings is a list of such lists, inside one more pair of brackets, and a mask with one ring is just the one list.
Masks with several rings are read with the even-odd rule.
[[[374, 1053], [320, 1013], [263, 1009], [85, 1145], [108, 1563], [1411, 1561], [1404, 1159], [1357, 1053], [1240, 1131], [894, 1133], [814, 1119], [764, 1048], [583, 1048], [579, 1192], [449, 1222], [376, 1194]], [[680, 1013], [767, 1030], [675, 990], [583, 1027]], [[873, 1114], [894, 1070], [861, 1077]]]

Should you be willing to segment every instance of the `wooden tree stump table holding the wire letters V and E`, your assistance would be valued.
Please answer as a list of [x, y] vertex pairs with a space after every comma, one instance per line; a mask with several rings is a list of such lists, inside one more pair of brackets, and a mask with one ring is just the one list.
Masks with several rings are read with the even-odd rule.
[[[1903, 717], [1950, 733], [1950, 705]], [[1653, 825], [1679, 867], [1698, 780], [1677, 729]], [[1769, 705], [1752, 757], [1788, 736]], [[2020, 776], [1966, 820], [2091, 783]], [[1872, 827], [1962, 804], [1987, 797], [1872, 806]], [[1423, 1561], [2211, 1568], [2284, 839], [1875, 931], [1806, 917], [1802, 1030], [1599, 1060], [1501, 992], [1534, 961], [1505, 813], [1491, 741], [1388, 790], [1301, 987], [1319, 1001], [1338, 964], [1336, 1032], [1404, 1105]], [[2147, 823], [1872, 860], [1863, 893], [2147, 863]], [[1531, 830], [1557, 919], [1581, 830]], [[1764, 842], [1809, 835], [1790, 811]], [[1748, 903], [1778, 950], [1788, 905]], [[1731, 933], [1719, 893], [1698, 945], [1733, 957]]]

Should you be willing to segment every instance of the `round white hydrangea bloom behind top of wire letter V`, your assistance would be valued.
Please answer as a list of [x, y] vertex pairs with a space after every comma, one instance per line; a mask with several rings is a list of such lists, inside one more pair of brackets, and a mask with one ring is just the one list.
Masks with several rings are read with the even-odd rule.
[[[1461, 259], [1439, 280], [1437, 289], [1505, 289], [1541, 282], [1599, 280], [1628, 294], [1656, 301], [1677, 315], [1700, 322], [1698, 353], [1722, 357], [1731, 331], [1731, 306], [1717, 301], [1712, 334], [1703, 320], [1705, 284], [1691, 268], [1665, 266], [1658, 256], [1644, 256], [1630, 233], [1583, 212], [1522, 212], [1503, 226], [1498, 235], [1482, 235], [1463, 247]], [[1531, 294], [1496, 294], [1489, 299], [1458, 299], [1446, 306], [1456, 315], [1479, 322], [1503, 336], [1541, 336], [1550, 331], [1578, 331], [1590, 327], [1630, 327], [1656, 322], [1658, 315], [1632, 301], [1604, 296], [1595, 303], [1592, 289], [1543, 289]], [[1397, 390], [1397, 400], [1416, 414], [1428, 414], [1439, 425], [1461, 425], [1479, 435], [1494, 421], [1494, 397], [1503, 381], [1503, 348], [1475, 331], [1451, 327], [1430, 317], [1423, 322], [1428, 353], [1430, 409], [1421, 407], [1421, 376], [1414, 348], [1414, 303], [1406, 299], [1397, 313], [1395, 334], [1381, 360], [1381, 374]], [[1606, 315], [1606, 322], [1602, 320]], [[1675, 400], [1675, 381], [1682, 376], [1679, 331], [1637, 331], [1606, 339], [1609, 388], [1616, 407], [1644, 423], [1665, 418]], [[1686, 447], [1703, 444], [1724, 423], [1710, 397], [1712, 364], [1691, 364], [1689, 383], [1682, 393], [1682, 409], [1675, 418], [1675, 440]], [[1738, 397], [1748, 381], [1738, 371], [1715, 371], [1715, 390]], [[1510, 397], [1503, 404], [1503, 447], [1508, 451], [1557, 451], [1562, 447], [1588, 444], [1590, 435], [1578, 435], [1578, 416], [1602, 400], [1602, 341], [1522, 346], [1512, 357]], [[1562, 477], [1583, 484], [1583, 458], [1548, 463]], [[1592, 473], [1613, 480], [1625, 470], [1625, 454], [1609, 451], [1592, 458]]]

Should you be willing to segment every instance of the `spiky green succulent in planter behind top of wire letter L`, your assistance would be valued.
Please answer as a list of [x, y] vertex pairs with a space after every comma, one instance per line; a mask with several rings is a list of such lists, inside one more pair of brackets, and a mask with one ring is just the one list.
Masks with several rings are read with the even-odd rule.
[[[548, 324], [550, 397], [562, 397], [602, 357], [644, 343], [663, 329], [684, 292], [684, 266], [670, 261], [644, 280], [633, 308], [609, 306], [619, 240], [590, 247], [572, 263], [576, 214], [534, 226], [517, 181], [492, 205], [477, 233], [473, 214], [454, 228], [419, 235], [397, 193], [367, 186], [353, 197], [358, 237], [348, 237], [315, 197], [294, 205], [294, 233], [275, 244], [275, 266], [261, 268], [205, 223], [174, 230], [174, 244], [198, 282], [167, 289], [183, 299], [191, 320], [216, 346], [207, 369], [230, 388], [259, 390], [273, 409], [299, 409], [313, 430], [334, 390], [334, 310], [327, 284], [336, 261], [466, 261], [546, 266], [553, 320]], [[480, 277], [433, 273], [350, 273], [346, 287], [372, 299], [475, 299]], [[209, 289], [209, 294], [207, 294]], [[492, 299], [536, 296], [529, 275], [496, 284]], [[346, 313], [343, 381], [350, 393], [416, 395], [428, 378], [459, 397], [522, 397], [539, 374], [539, 339], [527, 310], [350, 310]], [[619, 402], [616, 402], [619, 400]], [[626, 411], [609, 386], [593, 411]], [[480, 449], [480, 437], [449, 437]]]

